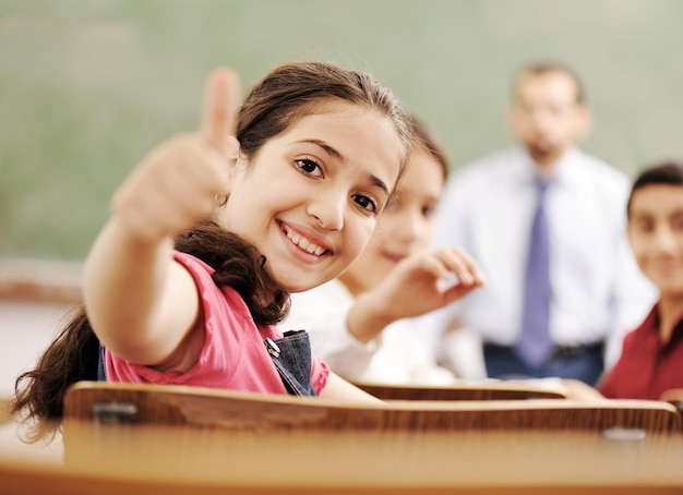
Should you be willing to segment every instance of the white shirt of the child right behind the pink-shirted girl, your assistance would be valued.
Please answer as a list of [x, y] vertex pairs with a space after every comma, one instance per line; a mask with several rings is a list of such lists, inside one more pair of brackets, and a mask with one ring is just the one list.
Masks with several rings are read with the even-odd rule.
[[278, 326], [283, 331], [307, 330], [313, 354], [348, 381], [397, 385], [456, 381], [453, 373], [435, 364], [409, 319], [394, 322], [368, 343], [358, 341], [346, 327], [354, 301], [346, 286], [335, 279], [291, 294], [289, 315]]

